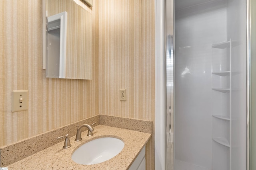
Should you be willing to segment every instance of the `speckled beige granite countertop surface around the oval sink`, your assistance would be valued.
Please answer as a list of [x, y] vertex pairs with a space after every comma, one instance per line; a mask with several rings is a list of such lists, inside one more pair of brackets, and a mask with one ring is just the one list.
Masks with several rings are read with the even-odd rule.
[[[71, 147], [63, 149], [64, 141], [53, 145], [47, 149], [28, 156], [14, 164], [8, 166], [8, 170], [26, 169], [104, 169], [104, 170], [126, 170], [138, 156], [140, 150], [146, 145], [151, 137], [149, 133], [109, 127], [105, 125], [97, 125], [94, 127], [94, 135], [86, 136], [87, 131], [82, 133], [82, 141], [74, 141], [75, 136], [70, 137]], [[71, 155], [78, 147], [101, 137], [116, 137], [124, 142], [124, 149], [114, 158], [105, 162], [94, 165], [77, 164], [71, 159]], [[57, 138], [57, 137], [56, 137]]]

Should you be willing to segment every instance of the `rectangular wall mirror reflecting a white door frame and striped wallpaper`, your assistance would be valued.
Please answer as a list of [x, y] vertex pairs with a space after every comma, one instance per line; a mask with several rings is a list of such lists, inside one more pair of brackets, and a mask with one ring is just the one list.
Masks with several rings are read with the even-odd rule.
[[92, 10], [86, 4], [45, 0], [46, 77], [92, 79]]

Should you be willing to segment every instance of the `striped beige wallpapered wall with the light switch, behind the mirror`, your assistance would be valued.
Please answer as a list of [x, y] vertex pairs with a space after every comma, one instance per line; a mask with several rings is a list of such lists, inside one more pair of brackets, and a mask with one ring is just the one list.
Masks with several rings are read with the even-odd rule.
[[[0, 1], [0, 11], [0, 146], [97, 115], [98, 29], [93, 32], [92, 80], [46, 78], [42, 1]], [[28, 90], [27, 111], [12, 113], [12, 90]]]

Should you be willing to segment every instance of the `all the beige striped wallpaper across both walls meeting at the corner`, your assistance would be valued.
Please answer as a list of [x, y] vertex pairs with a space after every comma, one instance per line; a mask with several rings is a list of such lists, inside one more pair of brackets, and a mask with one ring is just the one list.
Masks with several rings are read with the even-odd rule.
[[[0, 11], [0, 146], [98, 114], [154, 122], [154, 0], [94, 0], [92, 80], [45, 77], [41, 0]], [[12, 113], [12, 90], [28, 90], [28, 111]], [[146, 148], [154, 169], [154, 134]]]

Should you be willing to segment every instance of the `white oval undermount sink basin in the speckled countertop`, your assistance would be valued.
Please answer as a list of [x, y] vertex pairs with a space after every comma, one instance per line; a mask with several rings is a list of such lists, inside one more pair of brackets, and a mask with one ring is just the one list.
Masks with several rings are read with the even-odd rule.
[[124, 148], [124, 142], [114, 137], [94, 139], [80, 146], [74, 151], [71, 158], [74, 162], [83, 165], [92, 165], [104, 162], [116, 156]]

